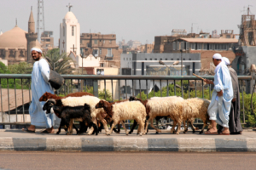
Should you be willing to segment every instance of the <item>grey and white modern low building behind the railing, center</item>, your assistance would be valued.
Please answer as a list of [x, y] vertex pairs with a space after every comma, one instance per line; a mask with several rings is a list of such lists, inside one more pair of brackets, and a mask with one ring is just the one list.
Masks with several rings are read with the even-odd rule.
[[[121, 54], [121, 75], [135, 75], [135, 76], [181, 76], [181, 54]], [[162, 60], [166, 65], [160, 65], [159, 60]], [[174, 62], [179, 61], [178, 65], [172, 65]], [[201, 69], [201, 54], [183, 54], [183, 76], [192, 75], [192, 73], [198, 74]], [[141, 92], [146, 94], [152, 90], [154, 86], [160, 88], [160, 83], [162, 87], [166, 86], [166, 81], [153, 81], [148, 80], [148, 88], [146, 81], [134, 80], [120, 81], [121, 96], [127, 98], [132, 95], [132, 88], [134, 89], [134, 94], [137, 95]], [[171, 83], [171, 81], [170, 81]]]

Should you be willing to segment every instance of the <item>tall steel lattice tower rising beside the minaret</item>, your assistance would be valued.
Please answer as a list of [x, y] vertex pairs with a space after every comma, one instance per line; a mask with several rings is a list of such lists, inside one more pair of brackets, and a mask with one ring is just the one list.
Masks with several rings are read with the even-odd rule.
[[44, 32], [44, 0], [38, 0], [37, 30], [38, 30], [38, 42], [40, 42], [41, 33]]

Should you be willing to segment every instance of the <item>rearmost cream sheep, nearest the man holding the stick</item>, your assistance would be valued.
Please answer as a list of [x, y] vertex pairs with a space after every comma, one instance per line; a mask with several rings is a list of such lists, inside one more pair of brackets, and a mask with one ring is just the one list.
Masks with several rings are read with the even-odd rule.
[[[207, 126], [207, 122], [210, 122], [209, 116], [207, 113], [208, 106], [210, 105], [210, 100], [200, 99], [200, 98], [191, 98], [185, 99], [183, 101], [183, 120], [189, 120], [187, 127], [184, 129], [184, 133], [188, 131], [189, 122], [192, 125], [195, 118], [201, 118], [204, 125], [200, 133], [204, 132], [204, 128]], [[211, 125], [210, 125], [211, 126]], [[192, 127], [193, 133], [195, 133], [194, 127]]]

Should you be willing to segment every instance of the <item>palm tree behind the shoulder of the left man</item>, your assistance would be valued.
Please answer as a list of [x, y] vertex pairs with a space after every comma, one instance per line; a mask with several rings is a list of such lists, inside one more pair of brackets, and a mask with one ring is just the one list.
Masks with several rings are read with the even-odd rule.
[[[59, 74], [76, 74], [74, 61], [67, 54], [60, 54], [59, 48], [49, 50], [44, 54], [44, 58], [48, 60], [51, 69], [55, 66], [55, 71]], [[61, 59], [61, 62], [58, 62]], [[63, 59], [63, 60], [62, 60]]]

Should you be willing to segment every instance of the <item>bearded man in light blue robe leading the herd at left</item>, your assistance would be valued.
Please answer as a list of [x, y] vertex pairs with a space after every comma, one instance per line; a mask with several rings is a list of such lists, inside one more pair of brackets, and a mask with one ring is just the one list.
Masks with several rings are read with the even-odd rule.
[[54, 94], [53, 88], [49, 84], [49, 64], [42, 57], [40, 48], [31, 49], [32, 59], [35, 61], [32, 70], [32, 103], [29, 106], [29, 114], [31, 117], [31, 126], [23, 129], [29, 133], [35, 133], [36, 127], [46, 127], [41, 133], [54, 133], [55, 114], [46, 114], [43, 111], [45, 102], [39, 102], [39, 98], [45, 93]]

